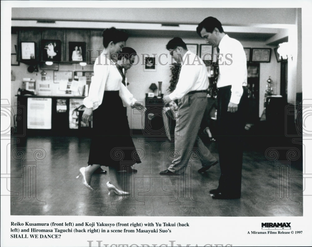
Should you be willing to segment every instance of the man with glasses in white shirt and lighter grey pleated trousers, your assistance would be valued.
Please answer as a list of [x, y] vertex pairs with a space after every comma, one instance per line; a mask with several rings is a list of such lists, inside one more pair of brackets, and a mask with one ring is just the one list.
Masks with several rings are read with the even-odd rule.
[[174, 130], [174, 149], [177, 157], [168, 169], [160, 174], [183, 173], [183, 168], [194, 151], [200, 156], [203, 170], [208, 170], [218, 161], [197, 136], [207, 106], [207, 68], [196, 54], [187, 49], [179, 37], [170, 40], [166, 48], [177, 62], [181, 62], [182, 67], [175, 89], [163, 97], [165, 105], [178, 100], [179, 114]]

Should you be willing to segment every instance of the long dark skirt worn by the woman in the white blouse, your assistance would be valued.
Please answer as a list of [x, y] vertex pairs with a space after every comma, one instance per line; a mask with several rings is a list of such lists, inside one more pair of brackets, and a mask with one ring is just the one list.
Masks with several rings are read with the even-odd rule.
[[93, 111], [89, 165], [115, 167], [141, 163], [119, 91], [105, 91], [102, 104]]

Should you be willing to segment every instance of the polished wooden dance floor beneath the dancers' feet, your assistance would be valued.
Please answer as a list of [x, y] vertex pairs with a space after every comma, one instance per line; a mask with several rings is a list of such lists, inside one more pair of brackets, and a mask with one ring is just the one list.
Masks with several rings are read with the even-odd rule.
[[[202, 138], [217, 157], [217, 142]], [[159, 175], [174, 156], [168, 140], [133, 138], [142, 163], [135, 165], [137, 174], [125, 176], [131, 194], [124, 197], [108, 195], [109, 174], [92, 177], [95, 191], [88, 190], [81, 177], [76, 179], [88, 161], [89, 138], [12, 140], [11, 215], [302, 216], [302, 157], [283, 164], [272, 160], [274, 155], [269, 160], [266, 150], [280, 147], [271, 141], [275, 138], [269, 139], [245, 140], [242, 194], [234, 200], [212, 199], [208, 191], [217, 188], [219, 165], [199, 174], [196, 155], [185, 175]]]

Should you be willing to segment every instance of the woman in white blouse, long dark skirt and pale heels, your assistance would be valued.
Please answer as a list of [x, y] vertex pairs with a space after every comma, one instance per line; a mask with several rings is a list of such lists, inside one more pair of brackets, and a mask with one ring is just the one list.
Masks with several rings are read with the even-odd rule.
[[[84, 185], [90, 185], [91, 176], [101, 165], [109, 167], [109, 192], [127, 195], [129, 192], [119, 190], [117, 172], [135, 172], [131, 166], [141, 163], [130, 136], [130, 129], [124, 106], [133, 106], [133, 95], [121, 83], [116, 63], [117, 53], [122, 51], [128, 35], [111, 27], [103, 31], [104, 50], [94, 63], [94, 76], [91, 78], [89, 95], [83, 103], [86, 107], [82, 121], [88, 123], [92, 115], [92, 139], [87, 167], [80, 168]], [[121, 165], [126, 164], [126, 166]], [[110, 193], [109, 193], [110, 194]]]

